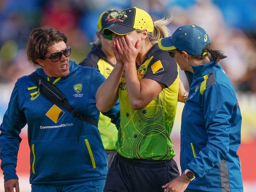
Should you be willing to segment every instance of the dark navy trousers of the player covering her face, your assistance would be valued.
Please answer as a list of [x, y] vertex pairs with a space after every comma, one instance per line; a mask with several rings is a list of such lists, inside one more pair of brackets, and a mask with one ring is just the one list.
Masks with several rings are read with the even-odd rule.
[[179, 177], [171, 160], [128, 159], [119, 154], [108, 170], [104, 192], [163, 192], [163, 185]]

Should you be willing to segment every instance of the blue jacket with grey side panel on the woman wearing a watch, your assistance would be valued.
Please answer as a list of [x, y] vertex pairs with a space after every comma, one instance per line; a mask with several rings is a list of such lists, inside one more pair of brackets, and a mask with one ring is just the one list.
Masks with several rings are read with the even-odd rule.
[[186, 191], [241, 192], [237, 150], [241, 112], [230, 79], [214, 62], [187, 72], [189, 97], [181, 121], [181, 170], [194, 172]]

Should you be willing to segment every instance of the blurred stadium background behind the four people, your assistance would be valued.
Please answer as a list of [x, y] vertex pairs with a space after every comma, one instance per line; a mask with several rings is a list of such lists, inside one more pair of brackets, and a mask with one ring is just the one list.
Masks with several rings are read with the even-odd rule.
[[[89, 52], [97, 30], [97, 19], [107, 9], [139, 7], [153, 20], [172, 16], [172, 32], [181, 25], [196, 24], [209, 34], [211, 46], [228, 56], [221, 65], [232, 80], [243, 123], [239, 148], [245, 192], [254, 192], [256, 150], [256, 0], [0, 0], [0, 121], [17, 78], [35, 70], [26, 58], [30, 31], [53, 26], [68, 37], [71, 60], [80, 63]], [[181, 72], [185, 86], [187, 80]], [[187, 86], [188, 88], [188, 86]], [[178, 105], [171, 134], [179, 162], [179, 130], [183, 104]], [[21, 132], [17, 174], [21, 192], [30, 191], [27, 128]], [[58, 153], [56, 152], [56, 155]], [[4, 191], [0, 175], [0, 192]]]

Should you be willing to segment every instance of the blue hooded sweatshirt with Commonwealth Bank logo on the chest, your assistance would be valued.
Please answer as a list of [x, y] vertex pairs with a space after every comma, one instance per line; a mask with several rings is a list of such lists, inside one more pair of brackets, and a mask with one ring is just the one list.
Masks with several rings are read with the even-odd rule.
[[[70, 73], [49, 78], [42, 68], [36, 72], [55, 84], [69, 103], [83, 115], [99, 121], [95, 94], [105, 77], [92, 67], [69, 61]], [[106, 115], [114, 118], [119, 109]], [[80, 121], [52, 104], [40, 93], [29, 76], [17, 80], [0, 126], [0, 158], [4, 181], [18, 179], [15, 171], [21, 129], [28, 124], [30, 183], [67, 185], [106, 179], [107, 155], [97, 127]], [[78, 134], [82, 133], [78, 141]]]

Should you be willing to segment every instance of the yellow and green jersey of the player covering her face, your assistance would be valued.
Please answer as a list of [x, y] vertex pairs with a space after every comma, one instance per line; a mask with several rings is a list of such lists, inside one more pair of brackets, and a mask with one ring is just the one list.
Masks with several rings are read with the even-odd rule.
[[172, 159], [175, 151], [170, 133], [178, 102], [178, 65], [168, 52], [160, 50], [155, 44], [146, 60], [137, 66], [137, 74], [139, 80], [150, 78], [165, 87], [144, 109], [134, 110], [129, 101], [123, 71], [119, 86], [121, 121], [117, 151], [125, 158]]

